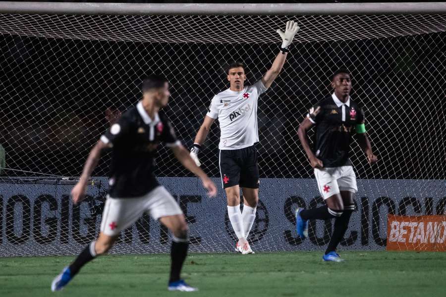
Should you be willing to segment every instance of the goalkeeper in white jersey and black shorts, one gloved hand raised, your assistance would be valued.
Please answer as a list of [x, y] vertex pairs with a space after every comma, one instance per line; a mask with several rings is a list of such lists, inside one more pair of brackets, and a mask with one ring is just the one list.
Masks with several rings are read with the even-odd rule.
[[[299, 27], [293, 21], [286, 23], [286, 30], [277, 30], [282, 38], [280, 52], [271, 68], [261, 80], [245, 86], [246, 73], [242, 63], [227, 67], [229, 89], [214, 96], [203, 124], [195, 137], [190, 155], [198, 166], [198, 153], [206, 140], [211, 125], [220, 122], [219, 166], [223, 189], [226, 192], [227, 212], [238, 238], [235, 250], [243, 254], [254, 253], [246, 240], [256, 217], [258, 201], [259, 168], [257, 150], [257, 101], [282, 70], [294, 35]], [[240, 211], [240, 188], [243, 192], [243, 213]]]

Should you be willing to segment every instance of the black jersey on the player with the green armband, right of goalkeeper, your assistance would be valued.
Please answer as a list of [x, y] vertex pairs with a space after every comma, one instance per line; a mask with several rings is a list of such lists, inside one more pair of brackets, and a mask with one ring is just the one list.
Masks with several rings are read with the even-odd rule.
[[324, 167], [351, 165], [351, 134], [364, 124], [362, 108], [351, 99], [342, 103], [333, 94], [311, 107], [307, 116], [316, 124], [313, 152]]

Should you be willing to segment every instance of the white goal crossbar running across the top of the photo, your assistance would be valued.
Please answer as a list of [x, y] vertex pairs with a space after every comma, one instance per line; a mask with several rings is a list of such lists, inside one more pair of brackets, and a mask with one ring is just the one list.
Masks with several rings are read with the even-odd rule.
[[373, 15], [446, 13], [446, 2], [92, 3], [0, 2], [0, 13], [82, 15]]

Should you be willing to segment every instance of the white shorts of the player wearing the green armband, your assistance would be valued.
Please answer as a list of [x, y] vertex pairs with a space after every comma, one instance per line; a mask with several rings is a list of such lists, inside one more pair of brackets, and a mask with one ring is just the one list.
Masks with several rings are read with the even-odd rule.
[[322, 198], [339, 194], [339, 191], [350, 191], [356, 193], [356, 175], [351, 166], [331, 167], [314, 169], [314, 175], [318, 182], [319, 192]]

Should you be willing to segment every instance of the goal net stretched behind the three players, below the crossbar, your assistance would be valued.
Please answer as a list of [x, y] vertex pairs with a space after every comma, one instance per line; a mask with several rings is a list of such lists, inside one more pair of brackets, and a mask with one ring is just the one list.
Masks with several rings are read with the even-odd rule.
[[[323, 249], [330, 239], [329, 221], [310, 222], [304, 241], [295, 231], [295, 208], [323, 203], [297, 127], [330, 94], [330, 75], [340, 67], [351, 72], [351, 97], [364, 107], [379, 157], [371, 166], [352, 145], [359, 192], [340, 248], [384, 249], [388, 214], [444, 214], [445, 14], [0, 14], [0, 256], [77, 253], [97, 236], [110, 155], [93, 173], [83, 203], [73, 206], [69, 193], [110, 122], [140, 99], [145, 75], [167, 76], [166, 113], [190, 147], [210, 100], [228, 88], [224, 66], [243, 61], [248, 82], [260, 79], [279, 52], [276, 30], [287, 20], [300, 31], [282, 73], [259, 99], [261, 202], [249, 236], [253, 249]], [[219, 135], [214, 124], [201, 153], [218, 187]], [[223, 190], [207, 198], [165, 148], [157, 163], [161, 183], [186, 212], [190, 249], [232, 251]], [[397, 247], [409, 244], [411, 232], [410, 244], [419, 249], [432, 240], [441, 246], [445, 224], [435, 226], [434, 239], [409, 226], [408, 235], [396, 236]], [[166, 252], [169, 237], [144, 215], [112, 252]]]

